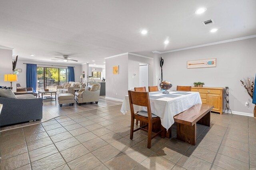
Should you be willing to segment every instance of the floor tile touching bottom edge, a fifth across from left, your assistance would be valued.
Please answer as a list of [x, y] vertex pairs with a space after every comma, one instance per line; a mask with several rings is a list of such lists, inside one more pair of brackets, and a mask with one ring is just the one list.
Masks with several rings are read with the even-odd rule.
[[33, 170], [52, 170], [54, 168], [58, 168], [59, 166], [65, 164], [60, 153], [53, 154], [46, 158], [37, 160], [36, 162], [32, 162]]

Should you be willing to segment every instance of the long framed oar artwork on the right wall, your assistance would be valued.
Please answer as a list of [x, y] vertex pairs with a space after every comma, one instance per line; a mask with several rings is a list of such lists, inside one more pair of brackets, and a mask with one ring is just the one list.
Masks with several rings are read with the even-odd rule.
[[216, 59], [187, 61], [187, 68], [216, 67]]

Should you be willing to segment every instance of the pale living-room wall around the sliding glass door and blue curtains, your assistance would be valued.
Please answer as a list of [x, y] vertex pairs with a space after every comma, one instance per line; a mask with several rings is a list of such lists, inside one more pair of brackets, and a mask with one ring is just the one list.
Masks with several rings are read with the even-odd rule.
[[[26, 87], [26, 64], [23, 64], [23, 63], [37, 64], [37, 66], [53, 67], [53, 68], [67, 68], [67, 66], [74, 66], [75, 81], [76, 82], [81, 81], [80, 76], [82, 75], [82, 65], [80, 64], [49, 63], [49, 62], [18, 59], [16, 68], [21, 68], [22, 72], [19, 72], [17, 83], [20, 83], [20, 86], [23, 86], [23, 87]], [[40, 64], [48, 64], [48, 65], [40, 65]], [[52, 66], [52, 65], [58, 65], [58, 66]]]

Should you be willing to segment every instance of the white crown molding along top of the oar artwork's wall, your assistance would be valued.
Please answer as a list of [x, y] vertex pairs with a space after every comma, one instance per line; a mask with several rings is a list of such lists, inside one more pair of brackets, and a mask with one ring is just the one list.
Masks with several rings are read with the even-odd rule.
[[206, 47], [206, 46], [210, 46], [210, 45], [216, 45], [216, 44], [222, 44], [222, 43], [229, 43], [229, 42], [233, 42], [233, 41], [240, 41], [240, 40], [244, 40], [244, 39], [250, 39], [250, 38], [255, 38], [256, 35], [250, 35], [250, 36], [246, 36], [246, 37], [239, 37], [239, 38], [234, 38], [234, 39], [228, 39], [228, 40], [224, 40], [224, 41], [217, 41], [214, 43], [208, 43], [208, 44], [202, 44], [202, 45], [195, 45], [195, 46], [191, 46], [191, 47], [185, 47], [185, 48], [181, 48], [181, 49], [174, 49], [174, 50], [170, 50], [170, 51], [152, 51], [152, 53], [158, 53], [158, 54], [164, 54], [164, 53], [172, 53], [175, 51], [182, 51], [182, 50], [187, 50], [187, 49], [194, 49], [194, 48], [199, 48], [199, 47]]

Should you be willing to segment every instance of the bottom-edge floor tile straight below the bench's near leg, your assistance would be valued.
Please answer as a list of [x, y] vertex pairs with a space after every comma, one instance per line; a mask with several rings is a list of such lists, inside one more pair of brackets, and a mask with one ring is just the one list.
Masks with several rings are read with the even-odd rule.
[[190, 154], [184, 154], [177, 164], [185, 169], [210, 170], [212, 164]]

